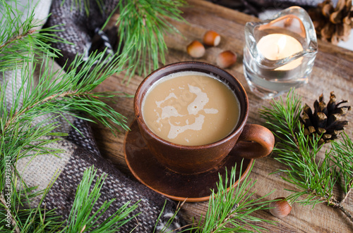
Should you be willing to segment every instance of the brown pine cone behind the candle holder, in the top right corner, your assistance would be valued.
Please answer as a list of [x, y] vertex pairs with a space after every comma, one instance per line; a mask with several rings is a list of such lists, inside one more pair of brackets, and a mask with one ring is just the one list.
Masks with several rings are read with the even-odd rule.
[[325, 0], [309, 15], [319, 39], [332, 44], [349, 39], [353, 27], [352, 0], [338, 0], [336, 7], [331, 0]]

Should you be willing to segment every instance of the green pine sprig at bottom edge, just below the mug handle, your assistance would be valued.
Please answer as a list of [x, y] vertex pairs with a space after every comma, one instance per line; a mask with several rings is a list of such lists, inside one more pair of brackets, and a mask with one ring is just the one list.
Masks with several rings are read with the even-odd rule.
[[[233, 184], [237, 182], [236, 166], [232, 168], [229, 178], [227, 177], [227, 172], [225, 177], [220, 175], [220, 182], [217, 183], [217, 194], [213, 190], [208, 204], [208, 211], [205, 217], [201, 218], [203, 223], [199, 225], [196, 232], [261, 232], [265, 228], [259, 226], [258, 223], [275, 224], [271, 220], [251, 216], [255, 211], [269, 209], [268, 204], [273, 200], [266, 201], [265, 198], [272, 194], [273, 191], [258, 199], [253, 198], [255, 192], [249, 192], [249, 189], [256, 184], [256, 181], [249, 180], [253, 165], [244, 180], [239, 182], [237, 187], [234, 187]], [[241, 169], [242, 163], [240, 165]], [[241, 174], [239, 177], [241, 177]]]

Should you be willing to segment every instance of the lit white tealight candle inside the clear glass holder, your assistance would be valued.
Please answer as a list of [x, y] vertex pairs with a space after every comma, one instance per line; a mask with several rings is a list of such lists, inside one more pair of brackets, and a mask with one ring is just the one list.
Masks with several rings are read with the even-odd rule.
[[[260, 51], [265, 58], [268, 60], [279, 60], [282, 58], [287, 58], [293, 54], [303, 51], [303, 46], [300, 42], [287, 34], [268, 34], [262, 37], [257, 44], [258, 51]], [[292, 70], [297, 68], [301, 64], [303, 57], [298, 58], [286, 65], [282, 65], [275, 70]]]

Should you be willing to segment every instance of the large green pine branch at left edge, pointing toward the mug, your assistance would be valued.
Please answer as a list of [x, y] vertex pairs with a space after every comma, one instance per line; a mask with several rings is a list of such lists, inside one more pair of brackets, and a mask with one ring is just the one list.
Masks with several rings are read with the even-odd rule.
[[[47, 145], [64, 136], [54, 132], [59, 126], [56, 122], [58, 116], [66, 119], [65, 115], [72, 115], [92, 122], [99, 121], [113, 132], [120, 128], [127, 130], [126, 118], [102, 101], [112, 94], [91, 92], [107, 77], [122, 69], [119, 56], [109, 62], [109, 58], [103, 57], [104, 53], [93, 54], [85, 63], [76, 58], [68, 73], [50, 70], [48, 58], [42, 63], [42, 75], [37, 86], [33, 81], [34, 73], [28, 72], [29, 64], [20, 64], [20, 74], [13, 77], [13, 85], [8, 87], [5, 83], [0, 87], [1, 154], [11, 156], [11, 160], [15, 161], [36, 153], [54, 153]], [[92, 68], [95, 61], [100, 63]], [[19, 87], [14, 85], [16, 83], [20, 84]], [[13, 99], [6, 99], [6, 89], [14, 92]], [[21, 103], [21, 99], [25, 101]], [[7, 110], [9, 105], [10, 111]], [[44, 120], [38, 121], [40, 117]]]

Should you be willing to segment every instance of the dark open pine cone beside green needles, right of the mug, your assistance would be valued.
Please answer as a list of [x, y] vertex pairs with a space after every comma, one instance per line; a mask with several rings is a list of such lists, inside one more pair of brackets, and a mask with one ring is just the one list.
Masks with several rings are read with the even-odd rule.
[[351, 106], [341, 106], [342, 103], [348, 101], [336, 102], [336, 96], [330, 93], [330, 101], [328, 104], [323, 101], [323, 94], [313, 103], [314, 112], [305, 104], [301, 116], [301, 122], [304, 124], [304, 135], [317, 135], [322, 137], [320, 144], [337, 139], [337, 134], [344, 130], [348, 124], [347, 120], [340, 120], [346, 115], [347, 111], [351, 111]]

